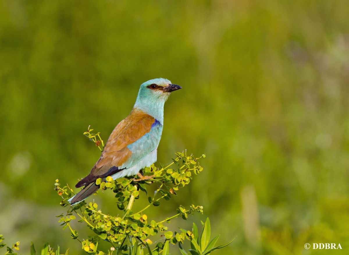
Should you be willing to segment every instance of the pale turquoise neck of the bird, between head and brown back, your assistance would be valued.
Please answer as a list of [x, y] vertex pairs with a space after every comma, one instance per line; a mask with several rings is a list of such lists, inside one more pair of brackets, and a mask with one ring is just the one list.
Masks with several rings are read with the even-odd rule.
[[144, 111], [146, 114], [157, 119], [161, 125], [164, 124], [164, 104], [165, 100], [141, 100], [139, 97], [134, 104], [134, 109]]

